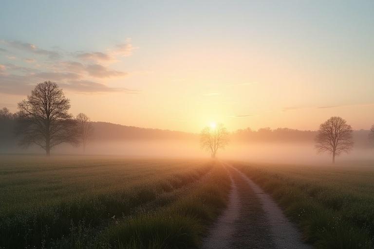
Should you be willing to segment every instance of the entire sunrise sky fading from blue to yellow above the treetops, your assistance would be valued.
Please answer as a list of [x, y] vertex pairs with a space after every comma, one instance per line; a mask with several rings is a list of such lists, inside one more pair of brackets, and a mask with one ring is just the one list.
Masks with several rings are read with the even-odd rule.
[[374, 1], [0, 3], [0, 107], [51, 80], [93, 121], [374, 124]]

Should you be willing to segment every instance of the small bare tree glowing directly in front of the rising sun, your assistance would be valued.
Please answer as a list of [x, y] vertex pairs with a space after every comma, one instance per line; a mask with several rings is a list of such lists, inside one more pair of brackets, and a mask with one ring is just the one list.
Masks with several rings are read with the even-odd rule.
[[200, 144], [203, 149], [210, 152], [212, 158], [217, 155], [218, 149], [224, 149], [228, 144], [228, 132], [223, 124], [217, 127], [205, 127], [201, 131]]

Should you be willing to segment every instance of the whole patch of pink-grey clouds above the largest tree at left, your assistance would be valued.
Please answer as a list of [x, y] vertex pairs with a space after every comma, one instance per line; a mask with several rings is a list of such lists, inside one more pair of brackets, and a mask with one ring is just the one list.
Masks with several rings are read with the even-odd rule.
[[[0, 65], [0, 92], [25, 95], [41, 81], [56, 81], [64, 89], [81, 92], [124, 92], [139, 93], [137, 90], [122, 87], [110, 87], [106, 85], [108, 81], [100, 82], [101, 79], [118, 78], [127, 76], [125, 71], [113, 70], [104, 62], [113, 62], [123, 56], [129, 56], [135, 49], [131, 45], [131, 40], [113, 46], [106, 52], [56, 52], [38, 48], [36, 45], [21, 42], [0, 40], [0, 44], [7, 46], [6, 51], [21, 50], [37, 55], [46, 55], [47, 58], [37, 60], [30, 56], [23, 59], [29, 67], [18, 66], [9, 63], [12, 57], [8, 55], [8, 63]], [[2, 50], [1, 50], [2, 52]], [[62, 55], [64, 59], [62, 59]], [[53, 62], [50, 59], [54, 59]], [[70, 60], [69, 60], [70, 59]], [[75, 61], [78, 60], [78, 61]], [[101, 63], [102, 62], [102, 63]], [[42, 69], [42, 70], [40, 70]], [[97, 81], [99, 82], [96, 82]]]

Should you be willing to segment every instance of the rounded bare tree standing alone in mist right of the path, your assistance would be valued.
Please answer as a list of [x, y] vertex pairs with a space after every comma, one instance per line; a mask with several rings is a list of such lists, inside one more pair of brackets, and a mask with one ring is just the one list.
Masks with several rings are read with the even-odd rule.
[[331, 117], [319, 126], [316, 137], [316, 149], [318, 153], [328, 152], [333, 156], [339, 156], [342, 152], [349, 153], [353, 148], [352, 127], [341, 117]]

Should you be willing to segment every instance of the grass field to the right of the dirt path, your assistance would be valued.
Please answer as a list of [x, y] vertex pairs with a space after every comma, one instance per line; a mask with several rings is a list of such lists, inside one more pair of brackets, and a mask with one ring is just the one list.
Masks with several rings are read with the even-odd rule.
[[234, 163], [269, 192], [318, 248], [374, 247], [374, 163], [274, 166]]

